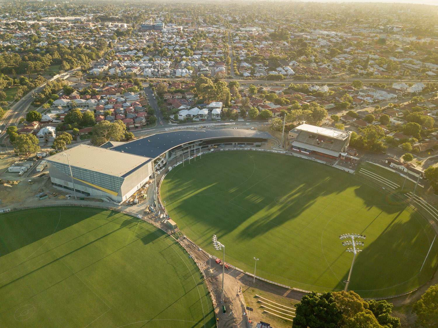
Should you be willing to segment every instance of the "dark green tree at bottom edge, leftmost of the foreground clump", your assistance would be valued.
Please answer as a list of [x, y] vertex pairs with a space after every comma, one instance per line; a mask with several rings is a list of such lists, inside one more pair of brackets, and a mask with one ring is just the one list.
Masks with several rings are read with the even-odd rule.
[[292, 328], [335, 328], [342, 319], [331, 292], [304, 295], [297, 304]]

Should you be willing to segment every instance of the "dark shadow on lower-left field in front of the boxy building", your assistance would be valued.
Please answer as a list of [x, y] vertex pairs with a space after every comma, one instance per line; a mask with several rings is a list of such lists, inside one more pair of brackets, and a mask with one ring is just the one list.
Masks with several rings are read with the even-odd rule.
[[[23, 212], [5, 213], [0, 217], [0, 257], [31, 243], [46, 238], [53, 233], [73, 226], [93, 215], [99, 219], [107, 219], [118, 212], [102, 211], [92, 208], [77, 210], [71, 207], [47, 207], [37, 211], [24, 210]], [[86, 211], [83, 211], [86, 209]], [[73, 212], [74, 215], [70, 215]]]

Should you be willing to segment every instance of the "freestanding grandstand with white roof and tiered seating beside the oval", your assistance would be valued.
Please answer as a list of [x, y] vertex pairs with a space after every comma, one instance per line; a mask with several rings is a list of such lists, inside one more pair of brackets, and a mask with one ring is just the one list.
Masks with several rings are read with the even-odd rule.
[[348, 155], [350, 132], [333, 127], [317, 127], [310, 124], [301, 124], [289, 131], [288, 138], [291, 148], [295, 152], [307, 155], [319, 155], [332, 159]]

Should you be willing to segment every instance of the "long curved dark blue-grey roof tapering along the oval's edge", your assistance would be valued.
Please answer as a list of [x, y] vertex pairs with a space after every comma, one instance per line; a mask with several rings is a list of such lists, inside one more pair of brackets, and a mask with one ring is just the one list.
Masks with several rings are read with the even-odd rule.
[[[117, 145], [112, 150], [155, 159], [168, 150], [188, 142], [211, 138], [272, 138], [268, 132], [244, 129], [180, 130], [153, 134]], [[105, 144], [108, 146], [107, 144]], [[111, 147], [111, 146], [110, 146]]]

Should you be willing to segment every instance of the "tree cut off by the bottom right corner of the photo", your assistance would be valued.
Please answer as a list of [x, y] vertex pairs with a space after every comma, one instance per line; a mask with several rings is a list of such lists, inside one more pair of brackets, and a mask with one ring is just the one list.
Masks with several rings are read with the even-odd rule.
[[429, 287], [413, 305], [418, 321], [424, 327], [436, 327], [438, 322], [438, 285]]

